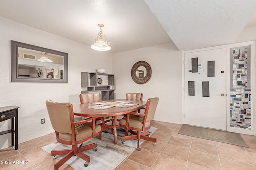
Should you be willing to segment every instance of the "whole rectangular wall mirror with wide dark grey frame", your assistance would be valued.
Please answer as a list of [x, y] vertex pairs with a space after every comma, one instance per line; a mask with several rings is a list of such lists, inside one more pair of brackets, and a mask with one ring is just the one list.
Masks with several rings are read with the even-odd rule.
[[68, 83], [68, 54], [11, 40], [11, 82]]

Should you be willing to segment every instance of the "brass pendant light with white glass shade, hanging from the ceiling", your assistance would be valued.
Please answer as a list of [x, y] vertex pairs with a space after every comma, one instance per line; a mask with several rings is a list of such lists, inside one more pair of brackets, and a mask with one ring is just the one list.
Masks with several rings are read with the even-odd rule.
[[[95, 39], [94, 45], [91, 46], [92, 49], [97, 51], [108, 51], [111, 49], [110, 42], [107, 42], [106, 35], [102, 35], [101, 27], [104, 27], [103, 24], [99, 23], [98, 26], [100, 27], [100, 33], [98, 33], [97, 39]], [[102, 40], [105, 39], [105, 41]]]

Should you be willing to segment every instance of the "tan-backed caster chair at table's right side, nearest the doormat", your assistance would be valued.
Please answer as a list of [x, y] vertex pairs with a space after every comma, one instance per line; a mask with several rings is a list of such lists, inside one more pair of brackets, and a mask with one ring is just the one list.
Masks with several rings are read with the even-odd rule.
[[[125, 136], [121, 137], [123, 144], [125, 144], [126, 140], [137, 139], [137, 149], [139, 151], [141, 150], [139, 146], [140, 139], [151, 141], [156, 145], [156, 138], [149, 137], [148, 134], [151, 127], [151, 120], [154, 118], [156, 112], [158, 101], [158, 97], [149, 98], [147, 100], [144, 113], [130, 112], [127, 113], [126, 117], [120, 119], [120, 126], [125, 129]], [[132, 135], [128, 135], [128, 129], [130, 129], [129, 132]]]

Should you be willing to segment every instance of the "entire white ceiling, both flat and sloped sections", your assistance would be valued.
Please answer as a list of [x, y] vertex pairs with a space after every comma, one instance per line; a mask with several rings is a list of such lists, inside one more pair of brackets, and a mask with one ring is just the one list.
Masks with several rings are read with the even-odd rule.
[[256, 11], [256, 0], [145, 2], [0, 0], [0, 16], [88, 46], [100, 31], [98, 23], [103, 23], [102, 32], [110, 42], [110, 53], [172, 40], [180, 50], [234, 43], [246, 24], [256, 25], [256, 17], [249, 21]]

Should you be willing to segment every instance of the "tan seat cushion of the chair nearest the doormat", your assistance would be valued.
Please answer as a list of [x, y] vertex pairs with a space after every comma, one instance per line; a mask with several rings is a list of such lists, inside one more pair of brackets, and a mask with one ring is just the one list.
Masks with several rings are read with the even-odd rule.
[[[126, 118], [124, 117], [120, 120], [120, 124], [121, 125], [126, 125]], [[132, 115], [130, 114], [130, 119], [129, 119], [129, 127], [134, 127], [134, 128], [138, 128], [138, 129], [142, 129], [142, 121], [143, 121], [143, 116], [138, 116], [138, 115]], [[150, 126], [150, 121], [145, 123], [145, 127], [149, 127]]]

